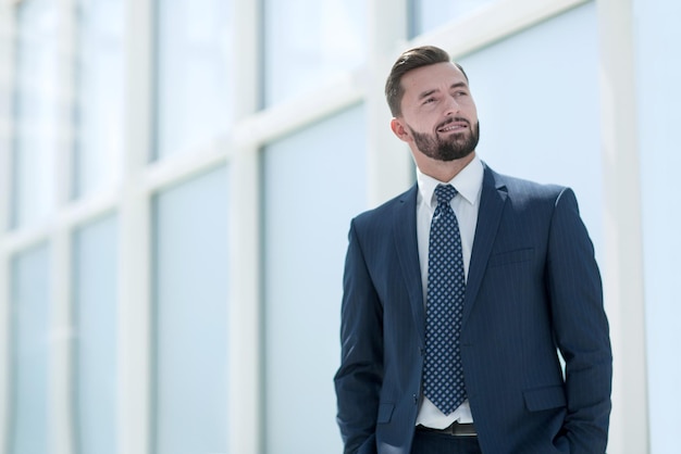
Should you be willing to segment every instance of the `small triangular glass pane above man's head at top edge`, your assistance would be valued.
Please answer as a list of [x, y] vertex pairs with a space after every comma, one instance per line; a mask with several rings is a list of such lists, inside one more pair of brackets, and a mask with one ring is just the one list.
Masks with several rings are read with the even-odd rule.
[[447, 22], [463, 17], [498, 0], [411, 0], [409, 20], [410, 36], [413, 38], [433, 30]]

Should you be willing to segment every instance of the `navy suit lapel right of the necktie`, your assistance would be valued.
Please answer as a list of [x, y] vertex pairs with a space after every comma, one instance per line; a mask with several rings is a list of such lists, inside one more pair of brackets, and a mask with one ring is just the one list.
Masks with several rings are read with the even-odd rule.
[[478, 297], [508, 197], [506, 186], [497, 179], [497, 175], [485, 165], [480, 209], [478, 211], [478, 226], [475, 227], [475, 239], [473, 240], [468, 280], [466, 282], [463, 324], [466, 324]]

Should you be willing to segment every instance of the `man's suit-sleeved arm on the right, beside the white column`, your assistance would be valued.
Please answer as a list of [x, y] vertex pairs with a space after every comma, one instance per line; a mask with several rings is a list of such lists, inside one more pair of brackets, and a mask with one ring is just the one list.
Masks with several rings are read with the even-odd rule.
[[547, 256], [547, 290], [556, 342], [566, 361], [571, 453], [604, 453], [610, 415], [612, 355], [592, 242], [570, 189], [555, 205]]

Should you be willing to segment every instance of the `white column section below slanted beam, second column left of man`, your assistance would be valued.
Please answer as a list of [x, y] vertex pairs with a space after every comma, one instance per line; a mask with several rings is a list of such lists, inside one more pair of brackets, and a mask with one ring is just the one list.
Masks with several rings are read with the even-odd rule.
[[[259, 454], [263, 433], [262, 303], [258, 150], [239, 148], [230, 162], [228, 445]], [[246, 189], [247, 188], [247, 189]]]

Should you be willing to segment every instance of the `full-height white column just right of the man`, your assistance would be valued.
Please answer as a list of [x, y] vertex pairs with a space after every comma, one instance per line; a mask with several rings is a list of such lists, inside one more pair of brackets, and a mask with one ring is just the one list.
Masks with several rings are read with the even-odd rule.
[[598, 1], [606, 310], [615, 378], [608, 452], [648, 452], [643, 244], [631, 0]]

